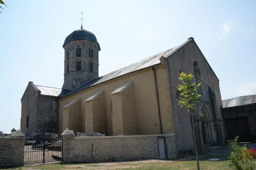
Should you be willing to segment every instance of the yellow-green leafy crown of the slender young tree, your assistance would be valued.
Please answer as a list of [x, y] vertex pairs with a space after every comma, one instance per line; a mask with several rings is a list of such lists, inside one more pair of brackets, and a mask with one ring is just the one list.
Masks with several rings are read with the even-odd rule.
[[179, 99], [177, 100], [180, 107], [187, 107], [188, 111], [195, 110], [195, 104], [199, 102], [199, 97], [201, 95], [197, 94], [196, 91], [201, 83], [193, 83], [193, 75], [189, 75], [184, 72], [180, 73], [179, 79], [182, 84], [178, 85], [180, 91]]

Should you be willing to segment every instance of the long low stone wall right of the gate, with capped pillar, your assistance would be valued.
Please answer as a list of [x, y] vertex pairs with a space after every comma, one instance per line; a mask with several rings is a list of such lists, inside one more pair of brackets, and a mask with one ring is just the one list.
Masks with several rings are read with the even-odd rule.
[[62, 133], [62, 160], [65, 163], [91, 163], [159, 159], [159, 137], [165, 139], [165, 157], [175, 158], [175, 134], [75, 137], [72, 130], [66, 129]]

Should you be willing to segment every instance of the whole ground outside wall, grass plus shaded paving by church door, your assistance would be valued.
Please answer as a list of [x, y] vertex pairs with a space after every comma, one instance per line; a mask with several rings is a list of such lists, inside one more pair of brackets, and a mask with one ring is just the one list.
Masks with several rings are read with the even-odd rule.
[[[256, 149], [256, 143], [246, 143], [248, 148]], [[244, 145], [244, 143], [240, 143]], [[200, 168], [202, 170], [234, 170], [229, 167], [230, 155], [228, 145], [216, 149], [206, 149], [200, 153]], [[209, 160], [219, 159], [219, 160]], [[92, 164], [61, 164], [45, 163], [24, 165], [8, 170], [196, 170], [196, 157], [193, 154], [184, 154], [174, 160], [136, 160], [129, 162], [104, 162]]]

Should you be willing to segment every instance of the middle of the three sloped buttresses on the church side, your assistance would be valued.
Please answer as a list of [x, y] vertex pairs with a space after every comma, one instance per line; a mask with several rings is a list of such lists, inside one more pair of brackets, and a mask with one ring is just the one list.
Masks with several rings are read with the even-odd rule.
[[85, 132], [108, 134], [104, 91], [98, 91], [85, 100]]

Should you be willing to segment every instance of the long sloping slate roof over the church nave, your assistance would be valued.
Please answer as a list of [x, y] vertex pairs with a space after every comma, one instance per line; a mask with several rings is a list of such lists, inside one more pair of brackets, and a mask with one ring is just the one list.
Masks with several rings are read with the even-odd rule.
[[187, 40], [185, 43], [183, 43], [179, 46], [176, 46], [176, 47], [173, 47], [169, 50], [160, 52], [156, 55], [145, 58], [144, 60], [138, 61], [136, 63], [130, 64], [129, 66], [126, 66], [126, 67], [120, 68], [118, 70], [115, 70], [114, 72], [105, 74], [102, 77], [87, 81], [85, 84], [82, 84], [81, 86], [78, 86], [77, 88], [75, 88], [73, 90], [70, 90], [69, 92], [67, 92], [62, 97], [71, 95], [75, 92], [78, 92], [78, 91], [81, 91], [81, 90], [84, 90], [84, 89], [87, 89], [88, 87], [103, 83], [104, 81], [108, 81], [108, 80], [111, 80], [111, 79], [114, 79], [114, 78], [118, 78], [122, 75], [132, 73], [132, 72], [135, 72], [135, 71], [138, 71], [138, 70], [141, 70], [141, 69], [145, 69], [145, 68], [160, 64], [160, 60], [159, 60], [160, 57], [163, 56], [163, 57], [167, 58], [168, 56], [170, 56], [172, 53], [174, 53], [176, 50], [178, 50], [180, 47], [182, 47], [183, 45], [185, 45], [189, 41], [190, 40]]

